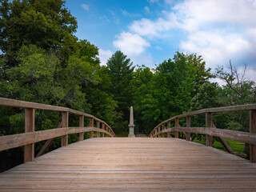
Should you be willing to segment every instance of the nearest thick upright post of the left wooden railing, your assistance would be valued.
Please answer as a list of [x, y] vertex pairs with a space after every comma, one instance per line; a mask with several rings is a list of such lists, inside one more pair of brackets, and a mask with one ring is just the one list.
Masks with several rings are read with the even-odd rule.
[[[25, 108], [25, 133], [34, 132], [34, 109]], [[24, 146], [24, 162], [34, 160], [34, 143]]]

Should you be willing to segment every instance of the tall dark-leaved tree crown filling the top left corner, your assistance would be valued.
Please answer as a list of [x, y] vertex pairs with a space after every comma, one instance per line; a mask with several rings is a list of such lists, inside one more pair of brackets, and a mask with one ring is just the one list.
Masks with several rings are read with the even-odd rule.
[[1, 0], [0, 49], [8, 66], [18, 66], [22, 46], [36, 45], [67, 59], [76, 50], [77, 21], [62, 0]]

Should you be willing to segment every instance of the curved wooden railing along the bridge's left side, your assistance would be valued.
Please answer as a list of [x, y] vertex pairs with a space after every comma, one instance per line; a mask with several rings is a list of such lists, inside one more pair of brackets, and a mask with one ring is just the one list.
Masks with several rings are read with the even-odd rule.
[[[78, 110], [61, 106], [50, 106], [35, 102], [22, 102], [9, 98], [0, 98], [0, 106], [11, 106], [25, 109], [25, 133], [12, 134], [0, 137], [0, 151], [9, 150], [18, 146], [24, 147], [24, 162], [34, 160], [34, 143], [47, 140], [38, 156], [44, 154], [50, 143], [56, 137], [62, 137], [62, 146], [68, 145], [68, 134], [79, 134], [78, 141], [84, 139], [84, 134], [90, 132], [90, 138], [94, 137], [115, 137], [114, 131], [110, 126], [99, 118], [95, 118], [91, 114], [82, 113]], [[58, 129], [34, 131], [34, 110], [54, 110], [62, 112], [62, 122], [59, 123]], [[79, 126], [69, 127], [69, 114], [79, 115]], [[84, 126], [84, 118], [90, 118], [88, 126]], [[94, 127], [96, 122], [96, 127]]]

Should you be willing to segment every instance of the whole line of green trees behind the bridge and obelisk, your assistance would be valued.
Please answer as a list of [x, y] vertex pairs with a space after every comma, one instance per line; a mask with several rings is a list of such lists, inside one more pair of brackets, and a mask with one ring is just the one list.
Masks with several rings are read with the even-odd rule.
[[[134, 66], [118, 50], [101, 66], [98, 47], [74, 36], [78, 24], [62, 0], [2, 0], [0, 14], [1, 97], [81, 110], [106, 121], [115, 133], [128, 130], [134, 106], [136, 131], [146, 134], [176, 114], [256, 101], [255, 82], [245, 74], [231, 63], [211, 74], [197, 54], [176, 52], [150, 69]], [[209, 82], [216, 76], [226, 86]], [[249, 129], [246, 112], [216, 115], [220, 128]], [[55, 128], [61, 119], [42, 110], [35, 116], [36, 130]], [[76, 118], [70, 116], [70, 126], [78, 126]], [[203, 126], [204, 121], [198, 116], [192, 122]], [[23, 130], [24, 112], [1, 107], [0, 135]]]

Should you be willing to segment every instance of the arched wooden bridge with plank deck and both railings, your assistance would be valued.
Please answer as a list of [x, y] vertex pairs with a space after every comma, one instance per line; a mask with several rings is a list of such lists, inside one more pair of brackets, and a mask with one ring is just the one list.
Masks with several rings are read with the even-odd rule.
[[[25, 146], [25, 163], [0, 174], [0, 191], [256, 191], [256, 105], [178, 115], [156, 126], [150, 138], [115, 138], [106, 122], [64, 107], [6, 98], [0, 106], [25, 108], [26, 132], [0, 137], [0, 150]], [[61, 111], [58, 129], [34, 131], [34, 110]], [[214, 127], [213, 113], [234, 110], [250, 110], [250, 133]], [[68, 126], [69, 113], [79, 115], [78, 127]], [[190, 127], [195, 114], [206, 114], [206, 127]], [[84, 118], [90, 118], [89, 126]], [[186, 127], [179, 126], [179, 118], [186, 118]], [[84, 140], [86, 132], [90, 138]], [[79, 142], [67, 145], [67, 134], [74, 133]], [[190, 133], [206, 134], [206, 146], [190, 142]], [[43, 154], [59, 136], [62, 147]], [[212, 136], [250, 144], [250, 161], [210, 147]], [[34, 143], [42, 140], [47, 140], [43, 155], [34, 158]]]

